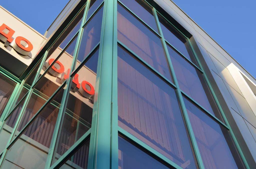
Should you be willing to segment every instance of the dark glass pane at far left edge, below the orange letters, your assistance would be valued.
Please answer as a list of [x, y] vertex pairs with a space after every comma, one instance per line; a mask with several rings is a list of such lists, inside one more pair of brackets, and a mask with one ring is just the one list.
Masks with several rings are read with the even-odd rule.
[[0, 73], [0, 117], [13, 93], [16, 83]]

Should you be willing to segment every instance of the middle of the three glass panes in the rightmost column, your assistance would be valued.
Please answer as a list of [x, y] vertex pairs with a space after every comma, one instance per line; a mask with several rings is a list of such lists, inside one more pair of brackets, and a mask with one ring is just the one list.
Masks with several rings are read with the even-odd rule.
[[167, 45], [180, 89], [223, 121], [216, 102], [201, 72]]

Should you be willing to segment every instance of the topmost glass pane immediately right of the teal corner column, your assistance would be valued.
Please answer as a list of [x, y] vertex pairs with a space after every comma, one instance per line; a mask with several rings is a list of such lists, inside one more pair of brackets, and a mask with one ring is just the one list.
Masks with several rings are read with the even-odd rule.
[[139, 18], [146, 22], [152, 29], [158, 32], [153, 9], [145, 1], [141, 0], [121, 0], [121, 2], [134, 12]]

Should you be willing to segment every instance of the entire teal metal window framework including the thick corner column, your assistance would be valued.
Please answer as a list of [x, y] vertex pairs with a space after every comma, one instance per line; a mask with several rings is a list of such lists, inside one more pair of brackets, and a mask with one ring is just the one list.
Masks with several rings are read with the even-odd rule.
[[[144, 0], [142, 0], [144, 1]], [[148, 5], [150, 5], [147, 1], [145, 1]], [[120, 3], [123, 7], [125, 7], [126, 10], [128, 10], [135, 18], [140, 20], [148, 29], [150, 29], [152, 32], [156, 34], [159, 38], [161, 38], [163, 49], [165, 52], [165, 55], [167, 57], [167, 61], [171, 70], [171, 74], [174, 80], [174, 83], [170, 82], [166, 77], [164, 77], [162, 74], [160, 74], [157, 70], [155, 70], [152, 66], [150, 66], [148, 63], [146, 63], [141, 57], [136, 55], [131, 49], [129, 49], [127, 46], [125, 46], [122, 42], [120, 42], [117, 38], [117, 3]], [[178, 96], [178, 101], [180, 103], [181, 109], [182, 109], [182, 114], [185, 120], [185, 125], [188, 131], [188, 135], [191, 141], [192, 149], [194, 151], [195, 155], [195, 160], [198, 163], [198, 167], [200, 169], [204, 168], [201, 155], [199, 152], [199, 148], [196, 142], [196, 138], [190, 123], [190, 120], [188, 118], [188, 113], [184, 104], [183, 96], [188, 98], [191, 102], [193, 102], [196, 106], [198, 106], [200, 109], [202, 109], [207, 115], [209, 115], [212, 119], [216, 121], [216, 123], [224, 126], [226, 129], [231, 134], [231, 137], [238, 149], [238, 152], [242, 158], [242, 161], [244, 162], [244, 165], [246, 168], [249, 168], [249, 165], [243, 155], [243, 152], [238, 144], [238, 141], [236, 137], [234, 136], [234, 133], [227, 121], [227, 118], [225, 116], [225, 113], [223, 112], [220, 103], [214, 93], [214, 90], [202, 68], [202, 65], [198, 59], [198, 56], [190, 42], [190, 39], [185, 36], [180, 30], [178, 30], [175, 25], [173, 25], [171, 22], [169, 22], [163, 15], [162, 17], [165, 18], [170, 24], [172, 24], [188, 41], [189, 46], [195, 56], [195, 59], [198, 63], [198, 66], [194, 64], [192, 61], [190, 61], [186, 56], [184, 56], [182, 53], [180, 53], [173, 45], [171, 45], [169, 42], [167, 42], [163, 36], [162, 29], [160, 27], [160, 23], [158, 20], [157, 13], [161, 15], [161, 11], [157, 11], [152, 5], [150, 5], [153, 9], [153, 14], [155, 17], [155, 21], [159, 30], [159, 33], [157, 33], [154, 29], [152, 29], [148, 24], [146, 24], [141, 18], [139, 18], [134, 12], [132, 12], [129, 8], [127, 8], [122, 2], [119, 0], [104, 0], [98, 7], [97, 9], [93, 12], [91, 16], [89, 16], [89, 19], [86, 20], [87, 13], [88, 13], [88, 8], [89, 8], [90, 0], [88, 0], [83, 7], [85, 7], [83, 18], [82, 18], [82, 23], [80, 26], [79, 31], [74, 35], [74, 37], [70, 40], [70, 42], [64, 47], [63, 51], [61, 54], [65, 51], [65, 49], [68, 47], [68, 45], [72, 42], [72, 40], [76, 37], [77, 42], [76, 42], [76, 47], [74, 50], [73, 54], [73, 62], [72, 62], [72, 67], [71, 67], [71, 74], [70, 77], [72, 77], [81, 67], [82, 65], [87, 61], [88, 57], [96, 50], [99, 48], [99, 59], [98, 59], [98, 68], [97, 68], [97, 76], [96, 76], [96, 86], [95, 86], [95, 92], [98, 94], [97, 98], [95, 98], [94, 105], [93, 105], [93, 115], [92, 115], [92, 126], [91, 128], [80, 138], [78, 139], [74, 145], [70, 147], [54, 164], [51, 163], [51, 159], [54, 155], [54, 150], [55, 150], [55, 143], [58, 141], [58, 131], [60, 129], [60, 126], [63, 123], [63, 115], [65, 115], [65, 110], [66, 110], [66, 105], [67, 105], [67, 100], [68, 100], [68, 95], [69, 95], [69, 89], [71, 85], [71, 79], [67, 79], [59, 88], [55, 91], [55, 93], [48, 98], [48, 100], [45, 102], [45, 104], [38, 110], [38, 112], [33, 116], [33, 118], [26, 124], [26, 126], [22, 129], [24, 131], [26, 127], [33, 122], [33, 120], [38, 116], [38, 114], [41, 112], [41, 110], [51, 101], [52, 98], [60, 91], [60, 89], [64, 89], [64, 94], [63, 98], [61, 101], [61, 106], [57, 118], [57, 122], [55, 125], [55, 130], [53, 134], [53, 138], [51, 141], [50, 145], [50, 150], [48, 153], [47, 161], [45, 168], [58, 168], [65, 160], [70, 158], [70, 155], [74, 153], [79, 146], [83, 144], [84, 141], [87, 139], [90, 139], [90, 146], [89, 146], [89, 159], [88, 159], [88, 168], [108, 168], [106, 166], [109, 166], [111, 169], [117, 169], [118, 168], [118, 135], [122, 135], [126, 138], [128, 138], [131, 142], [135, 143], [138, 145], [140, 148], [145, 150], [146, 152], [150, 153], [153, 157], [160, 159], [161, 161], [165, 162], [171, 167], [174, 168], [181, 168], [179, 165], [175, 164], [173, 161], [169, 160], [167, 157], [165, 157], [163, 154], [159, 153], [158, 151], [154, 150], [150, 146], [146, 145], [144, 142], [141, 140], [137, 139], [135, 136], [131, 135], [124, 129], [118, 126], [118, 98], [117, 98], [117, 46], [120, 45], [122, 46], [126, 51], [128, 51], [132, 56], [137, 58], [141, 63], [144, 64], [148, 69], [152, 70], [154, 73], [156, 73], [161, 79], [163, 79], [166, 83], [171, 85], [177, 93]], [[104, 4], [104, 5], [103, 5]], [[74, 64], [76, 63], [77, 59], [77, 54], [79, 51], [80, 43], [81, 43], [81, 37], [83, 34], [83, 28], [84, 26], [90, 21], [92, 16], [94, 16], [95, 12], [97, 12], [101, 7], [103, 6], [103, 19], [102, 19], [102, 28], [101, 28], [101, 38], [100, 38], [100, 43], [96, 45], [88, 54], [86, 58], [80, 63], [80, 65], [75, 69]], [[80, 11], [83, 9], [83, 7], [80, 9]], [[108, 10], [107, 10], [108, 9]], [[80, 12], [79, 11], [79, 12]], [[79, 13], [77, 12], [77, 14]], [[75, 17], [74, 17], [75, 18]], [[73, 18], [73, 19], [74, 19]], [[72, 19], [72, 20], [73, 20]], [[72, 20], [69, 22], [71, 23]], [[67, 27], [66, 27], [67, 28]], [[64, 31], [64, 30], [63, 30]], [[62, 31], [62, 32], [63, 32]], [[61, 33], [62, 33], [61, 32]], [[61, 34], [60, 34], [61, 35]], [[59, 36], [60, 36], [59, 35]], [[58, 36], [58, 37], [59, 37]], [[57, 38], [58, 38], [57, 37]], [[57, 38], [54, 42], [57, 41]], [[54, 44], [52, 43], [52, 45]], [[110, 44], [112, 48], [110, 47]], [[199, 103], [197, 103], [193, 98], [188, 96], [185, 92], [183, 92], [177, 81], [177, 77], [174, 72], [174, 68], [167, 50], [167, 45], [171, 46], [176, 50], [177, 53], [181, 55], [187, 62], [189, 62], [196, 70], [201, 72], [206, 80], [207, 85], [209, 86], [210, 92], [212, 93], [214, 100], [217, 103], [217, 106], [221, 112], [221, 115], [224, 119], [224, 122], [220, 121], [218, 118], [216, 118], [213, 114], [211, 114], [209, 111], [207, 111], [204, 107], [202, 107]], [[50, 47], [48, 48], [48, 50]], [[40, 76], [40, 70], [43, 66], [43, 63], [46, 60], [47, 56], [47, 51], [45, 51], [44, 56], [42, 60], [40, 60], [40, 66], [38, 68], [38, 71], [36, 73], [35, 79], [31, 85], [28, 91], [28, 93], [19, 101], [21, 103], [22, 101], [25, 100], [24, 105], [22, 107], [22, 110], [18, 116], [17, 122], [14, 126], [13, 132], [8, 140], [8, 143], [6, 145], [6, 149], [0, 154], [1, 159], [0, 159], [0, 168], [2, 167], [2, 164], [5, 160], [6, 154], [8, 153], [8, 149], [14, 144], [14, 142], [19, 138], [18, 136], [21, 135], [22, 131], [20, 132], [19, 135], [14, 137], [14, 133], [18, 127], [19, 121], [22, 118], [22, 115], [24, 113], [24, 110], [27, 106], [27, 103], [29, 101], [29, 98], [33, 92], [33, 89], [35, 85], [38, 83], [38, 81], [47, 73], [49, 68], [58, 60], [58, 58], [61, 56], [59, 54], [55, 61], [47, 68]], [[2, 69], [0, 68], [0, 72]], [[31, 71], [30, 71], [31, 72]], [[8, 74], [8, 73], [6, 73]], [[9, 76], [9, 75], [8, 75]], [[12, 77], [12, 76], [10, 76]], [[16, 101], [17, 97], [19, 96], [19, 92], [21, 91], [22, 87], [27, 86], [24, 84], [24, 80], [20, 81], [16, 77], [13, 78], [16, 79], [17, 84], [19, 83], [18, 87], [16, 86], [16, 92], [14, 92], [14, 96], [12, 96], [12, 101], [9, 101], [9, 107], [8, 109], [6, 108], [5, 116], [4, 116], [4, 121], [12, 114], [12, 112], [15, 110], [17, 106], [12, 106]], [[111, 83], [109, 83], [111, 81]], [[8, 102], [8, 103], [9, 103]], [[8, 113], [9, 112], [9, 113]], [[1, 117], [2, 118], [2, 117]], [[2, 118], [3, 120], [3, 118]], [[3, 125], [2, 125], [3, 126]], [[1, 127], [2, 129], [2, 127]], [[1, 131], [1, 130], [0, 130]], [[14, 139], [13, 139], [14, 138]], [[12, 140], [13, 139], [13, 140]], [[107, 150], [102, 152], [101, 150]]]

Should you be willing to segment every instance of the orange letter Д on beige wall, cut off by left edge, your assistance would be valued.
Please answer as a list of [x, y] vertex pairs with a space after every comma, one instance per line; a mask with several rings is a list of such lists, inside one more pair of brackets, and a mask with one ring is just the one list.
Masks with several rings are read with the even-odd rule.
[[0, 26], [0, 39], [4, 41], [4, 45], [8, 46], [13, 41], [14, 30], [9, 28], [6, 24]]

